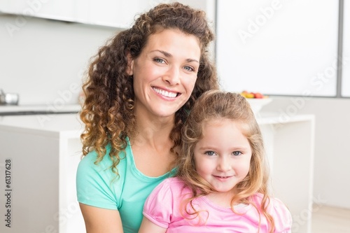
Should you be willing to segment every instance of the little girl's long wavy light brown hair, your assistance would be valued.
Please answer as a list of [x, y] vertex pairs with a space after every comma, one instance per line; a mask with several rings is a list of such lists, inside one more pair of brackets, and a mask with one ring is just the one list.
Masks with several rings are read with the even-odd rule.
[[[193, 196], [186, 200], [192, 211], [191, 213], [187, 209], [185, 211], [192, 216], [200, 216], [200, 210], [196, 210], [192, 205], [193, 199], [216, 192], [204, 178], [197, 174], [194, 150], [197, 142], [202, 139], [204, 124], [210, 120], [221, 118], [239, 122], [242, 133], [248, 139], [252, 150], [248, 174], [243, 181], [237, 183], [237, 194], [231, 199], [232, 211], [237, 213], [233, 208], [235, 203], [253, 204], [253, 202], [250, 202], [249, 197], [256, 192], [260, 192], [263, 195], [262, 204], [261, 206], [253, 204], [253, 206], [267, 218], [270, 224], [270, 232], [274, 232], [274, 220], [267, 213], [269, 175], [265, 161], [262, 134], [248, 101], [241, 94], [209, 90], [197, 99], [186, 123], [183, 125], [183, 143], [181, 144], [181, 156], [177, 161], [178, 170], [176, 176], [184, 181], [193, 192]], [[187, 205], [184, 204], [184, 206]]]

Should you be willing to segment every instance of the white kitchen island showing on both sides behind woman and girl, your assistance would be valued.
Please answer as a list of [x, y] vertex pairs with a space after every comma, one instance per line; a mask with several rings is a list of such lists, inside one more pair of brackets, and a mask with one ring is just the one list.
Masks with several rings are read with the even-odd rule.
[[[293, 233], [310, 232], [314, 116], [268, 114], [258, 117], [258, 123], [274, 194], [293, 215]], [[85, 232], [76, 201], [82, 131], [78, 114], [0, 117], [0, 188], [5, 194], [0, 195], [0, 232]]]

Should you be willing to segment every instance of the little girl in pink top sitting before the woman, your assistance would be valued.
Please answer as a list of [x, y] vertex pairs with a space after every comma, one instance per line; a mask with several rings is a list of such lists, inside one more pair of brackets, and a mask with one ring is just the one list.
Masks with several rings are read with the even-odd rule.
[[183, 126], [177, 176], [148, 197], [139, 232], [290, 232], [290, 212], [268, 195], [264, 153], [246, 99], [204, 93]]

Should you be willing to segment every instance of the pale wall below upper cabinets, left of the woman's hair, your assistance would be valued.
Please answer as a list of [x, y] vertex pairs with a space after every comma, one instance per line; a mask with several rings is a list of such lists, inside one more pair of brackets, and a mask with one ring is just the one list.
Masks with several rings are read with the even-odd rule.
[[76, 104], [87, 62], [116, 33], [93, 27], [0, 15], [0, 89], [20, 104]]

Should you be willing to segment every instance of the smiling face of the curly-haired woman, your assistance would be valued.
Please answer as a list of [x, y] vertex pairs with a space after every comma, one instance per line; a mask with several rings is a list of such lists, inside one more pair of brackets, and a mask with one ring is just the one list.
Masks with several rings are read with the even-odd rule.
[[188, 101], [200, 66], [200, 42], [176, 29], [153, 34], [137, 59], [130, 59], [135, 112], [143, 117], [173, 116]]

